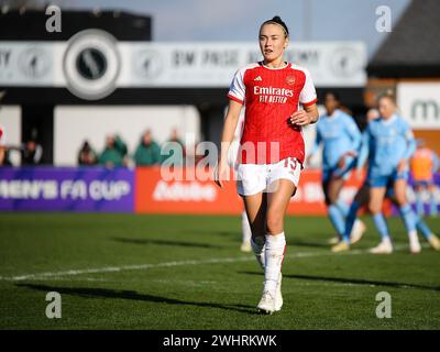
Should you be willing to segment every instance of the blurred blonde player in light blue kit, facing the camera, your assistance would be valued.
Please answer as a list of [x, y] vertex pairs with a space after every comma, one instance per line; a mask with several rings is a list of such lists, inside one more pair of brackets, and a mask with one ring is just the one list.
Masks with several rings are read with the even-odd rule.
[[[421, 248], [416, 230], [416, 215], [406, 198], [408, 163], [416, 150], [416, 141], [408, 123], [397, 114], [394, 97], [384, 95], [378, 99], [381, 117], [366, 127], [363, 135], [369, 150], [367, 183], [369, 209], [381, 234], [381, 243], [371, 250], [374, 254], [393, 252], [388, 227], [382, 212], [387, 186], [392, 186], [409, 238], [411, 253]], [[364, 148], [363, 148], [364, 151]], [[361, 165], [365, 153], [360, 156]]]

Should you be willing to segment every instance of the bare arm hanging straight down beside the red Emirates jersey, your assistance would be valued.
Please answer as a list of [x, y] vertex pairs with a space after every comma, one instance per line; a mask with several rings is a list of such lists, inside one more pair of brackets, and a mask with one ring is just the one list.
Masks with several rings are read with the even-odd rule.
[[222, 180], [229, 178], [228, 151], [234, 138], [242, 107], [243, 105], [235, 100], [231, 99], [229, 101], [228, 113], [224, 118], [223, 131], [221, 133], [220, 156], [215, 173], [215, 180], [219, 187], [223, 187]]

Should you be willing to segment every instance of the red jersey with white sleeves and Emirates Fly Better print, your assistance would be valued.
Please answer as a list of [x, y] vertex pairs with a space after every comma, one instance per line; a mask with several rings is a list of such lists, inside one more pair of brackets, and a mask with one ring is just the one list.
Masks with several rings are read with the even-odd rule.
[[249, 65], [237, 72], [228, 97], [246, 108], [240, 163], [273, 164], [286, 157], [304, 163], [302, 132], [289, 123], [289, 118], [299, 103], [317, 101], [307, 69], [293, 64], [280, 68]]

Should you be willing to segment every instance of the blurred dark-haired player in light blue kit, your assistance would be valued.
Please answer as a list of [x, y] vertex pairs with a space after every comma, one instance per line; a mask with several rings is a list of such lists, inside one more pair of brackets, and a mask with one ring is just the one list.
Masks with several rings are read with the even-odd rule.
[[[340, 199], [340, 193], [355, 165], [362, 135], [353, 118], [339, 109], [340, 99], [336, 92], [328, 91], [324, 95], [324, 107], [327, 113], [317, 123], [317, 138], [309, 158], [322, 143], [322, 189], [339, 242], [345, 231], [345, 217], [349, 212], [349, 206]], [[364, 226], [360, 223], [360, 227]], [[332, 251], [339, 252], [348, 245], [340, 241]]]

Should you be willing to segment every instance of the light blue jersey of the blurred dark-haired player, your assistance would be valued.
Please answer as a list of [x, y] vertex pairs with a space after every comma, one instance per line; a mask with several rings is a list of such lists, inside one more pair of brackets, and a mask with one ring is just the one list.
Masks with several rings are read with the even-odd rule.
[[323, 116], [317, 123], [317, 138], [311, 154], [323, 144], [322, 170], [328, 172], [338, 167], [340, 158], [351, 153], [358, 154], [362, 135], [353, 118], [341, 110], [334, 110], [331, 116]]

